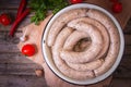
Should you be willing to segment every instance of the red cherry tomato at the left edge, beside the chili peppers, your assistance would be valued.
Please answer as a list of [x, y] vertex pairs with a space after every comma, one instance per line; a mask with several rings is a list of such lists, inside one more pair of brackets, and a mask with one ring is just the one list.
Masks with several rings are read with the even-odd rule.
[[7, 13], [2, 13], [0, 15], [0, 23], [4, 26], [11, 24], [11, 18], [9, 17], [9, 15]]

